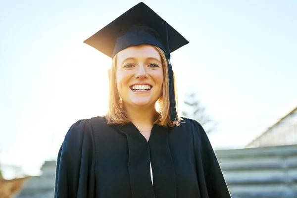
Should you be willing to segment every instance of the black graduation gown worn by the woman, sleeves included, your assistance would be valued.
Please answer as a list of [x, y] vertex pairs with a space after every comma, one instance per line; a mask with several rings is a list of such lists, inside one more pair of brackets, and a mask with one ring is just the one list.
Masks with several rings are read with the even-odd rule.
[[[150, 163], [153, 185], [150, 177]], [[154, 125], [149, 141], [129, 123], [79, 120], [56, 165], [54, 198], [231, 198], [202, 126]]]

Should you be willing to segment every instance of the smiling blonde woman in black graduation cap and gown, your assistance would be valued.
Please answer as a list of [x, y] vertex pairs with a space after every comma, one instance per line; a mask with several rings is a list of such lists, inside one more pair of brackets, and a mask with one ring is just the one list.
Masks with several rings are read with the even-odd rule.
[[108, 112], [69, 129], [54, 197], [230, 198], [202, 126], [177, 115], [169, 52], [188, 41], [139, 3], [85, 43], [112, 58]]

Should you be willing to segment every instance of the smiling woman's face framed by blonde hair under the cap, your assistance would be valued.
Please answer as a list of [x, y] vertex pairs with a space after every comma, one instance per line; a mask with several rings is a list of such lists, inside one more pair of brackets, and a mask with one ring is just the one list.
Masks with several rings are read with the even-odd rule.
[[117, 54], [116, 82], [125, 105], [153, 106], [162, 94], [163, 68], [150, 45], [132, 46]]

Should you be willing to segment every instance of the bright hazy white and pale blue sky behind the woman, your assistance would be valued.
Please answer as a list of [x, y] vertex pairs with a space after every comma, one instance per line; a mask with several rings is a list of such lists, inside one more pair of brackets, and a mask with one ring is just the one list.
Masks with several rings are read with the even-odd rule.
[[[196, 92], [214, 149], [297, 106], [296, 0], [144, 2], [190, 42], [171, 54], [180, 111]], [[107, 111], [111, 59], [83, 41], [137, 3], [0, 0], [0, 163], [38, 174], [74, 122]]]

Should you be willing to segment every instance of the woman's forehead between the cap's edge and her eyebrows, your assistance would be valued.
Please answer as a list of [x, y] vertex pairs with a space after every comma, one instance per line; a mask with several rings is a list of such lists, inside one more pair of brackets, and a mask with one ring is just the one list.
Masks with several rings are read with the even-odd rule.
[[140, 46], [131, 46], [129, 48], [123, 49], [117, 54], [118, 62], [122, 62], [127, 58], [137, 58], [137, 59], [146, 59], [146, 58], [156, 58], [161, 61], [161, 56], [159, 52], [151, 45], [140, 45]]

